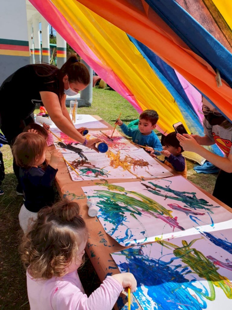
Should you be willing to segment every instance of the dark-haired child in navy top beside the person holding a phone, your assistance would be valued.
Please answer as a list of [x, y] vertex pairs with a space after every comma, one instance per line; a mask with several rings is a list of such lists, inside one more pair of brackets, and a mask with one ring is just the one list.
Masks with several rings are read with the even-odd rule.
[[[174, 169], [178, 174], [187, 178], [186, 161], [182, 155], [184, 150], [176, 137], [175, 131], [165, 136], [163, 149], [164, 150], [161, 151], [161, 153], [165, 156], [165, 159], [161, 162]], [[156, 157], [152, 153], [153, 152], [151, 152], [151, 156]]]

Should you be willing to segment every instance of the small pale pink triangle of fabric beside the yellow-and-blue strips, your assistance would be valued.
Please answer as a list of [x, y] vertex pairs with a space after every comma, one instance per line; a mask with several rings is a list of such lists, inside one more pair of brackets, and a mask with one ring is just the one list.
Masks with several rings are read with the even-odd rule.
[[203, 118], [204, 115], [200, 114], [198, 110], [202, 108], [202, 96], [198, 90], [195, 89], [195, 87], [192, 86], [191, 83], [189, 83], [180, 73], [178, 73], [175, 70], [175, 73], [188, 97], [190, 100], [192, 107], [194, 108], [194, 111], [196, 112], [198, 118], [200, 119], [200, 122], [203, 124]]

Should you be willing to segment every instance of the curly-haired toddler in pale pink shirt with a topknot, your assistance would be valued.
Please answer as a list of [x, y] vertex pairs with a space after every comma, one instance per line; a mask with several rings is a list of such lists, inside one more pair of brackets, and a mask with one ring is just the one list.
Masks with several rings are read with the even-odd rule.
[[125, 272], [106, 277], [87, 297], [77, 273], [87, 238], [76, 202], [63, 200], [39, 211], [20, 245], [31, 310], [111, 310], [123, 288], [136, 290], [134, 276]]

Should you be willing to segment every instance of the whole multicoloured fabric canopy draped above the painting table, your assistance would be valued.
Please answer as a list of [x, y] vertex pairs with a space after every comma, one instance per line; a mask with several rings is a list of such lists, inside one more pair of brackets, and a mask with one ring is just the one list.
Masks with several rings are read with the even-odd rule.
[[[203, 134], [201, 94], [232, 120], [232, 4], [225, 0], [30, 0], [73, 49], [159, 130]], [[225, 3], [226, 2], [226, 3]], [[225, 9], [226, 8], [226, 9]], [[216, 69], [222, 86], [217, 87]]]

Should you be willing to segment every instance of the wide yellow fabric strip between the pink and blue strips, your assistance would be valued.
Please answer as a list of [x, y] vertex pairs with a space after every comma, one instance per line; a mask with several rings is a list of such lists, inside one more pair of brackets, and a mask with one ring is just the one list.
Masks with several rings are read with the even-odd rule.
[[142, 110], [158, 112], [158, 125], [164, 132], [173, 131], [176, 122], [188, 129], [174, 98], [124, 31], [75, 0], [52, 2], [102, 63], [130, 89]]

